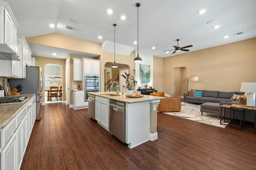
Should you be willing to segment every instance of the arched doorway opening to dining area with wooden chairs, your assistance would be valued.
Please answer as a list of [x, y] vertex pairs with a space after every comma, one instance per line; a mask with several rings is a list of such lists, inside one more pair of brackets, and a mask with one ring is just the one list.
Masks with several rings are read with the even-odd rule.
[[[59, 64], [45, 64], [44, 66], [44, 102], [56, 103], [62, 102], [61, 98], [52, 98], [52, 102], [49, 99], [50, 86], [58, 86], [62, 88], [62, 66]], [[58, 92], [60, 93], [60, 92]]]

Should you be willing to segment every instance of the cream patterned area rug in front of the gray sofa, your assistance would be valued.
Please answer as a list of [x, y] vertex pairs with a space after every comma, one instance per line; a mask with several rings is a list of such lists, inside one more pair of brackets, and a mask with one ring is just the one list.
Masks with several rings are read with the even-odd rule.
[[[211, 113], [203, 113], [201, 115], [200, 105], [190, 104], [190, 103], [181, 103], [181, 111], [179, 112], [162, 112], [168, 115], [182, 117], [184, 119], [189, 119], [192, 121], [197, 121], [200, 123], [206, 123], [208, 125], [214, 125], [218, 127], [225, 128], [228, 123], [224, 123], [226, 125], [220, 125], [220, 119], [218, 119], [217, 115]], [[227, 121], [227, 120], [226, 120]]]

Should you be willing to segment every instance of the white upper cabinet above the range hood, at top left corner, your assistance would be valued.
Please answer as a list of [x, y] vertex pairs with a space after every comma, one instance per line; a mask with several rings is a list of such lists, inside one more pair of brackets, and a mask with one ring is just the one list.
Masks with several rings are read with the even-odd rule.
[[0, 44], [1, 51], [17, 53], [17, 28], [19, 27], [9, 5], [0, 1]]

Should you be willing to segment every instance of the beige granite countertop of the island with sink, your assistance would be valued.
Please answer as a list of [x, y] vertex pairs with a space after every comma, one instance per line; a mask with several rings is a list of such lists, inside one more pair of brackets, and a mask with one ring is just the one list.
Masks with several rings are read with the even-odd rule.
[[[104, 98], [108, 98], [111, 100], [116, 100], [118, 102], [123, 102], [123, 103], [138, 103], [138, 102], [146, 102], [146, 101], [151, 101], [151, 100], [160, 100], [160, 99], [165, 99], [166, 97], [160, 97], [160, 96], [150, 96], [150, 95], [144, 95], [142, 97], [128, 97], [128, 96], [106, 96], [104, 94], [116, 94], [116, 92], [89, 92], [89, 94], [95, 95], [95, 96], [100, 96]], [[102, 95], [103, 94], [103, 95]], [[119, 94], [122, 94], [119, 92]]]

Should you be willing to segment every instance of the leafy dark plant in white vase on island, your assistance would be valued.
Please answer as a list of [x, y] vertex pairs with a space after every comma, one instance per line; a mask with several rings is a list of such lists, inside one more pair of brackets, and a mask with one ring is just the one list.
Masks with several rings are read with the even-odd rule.
[[131, 96], [133, 94], [134, 88], [137, 85], [137, 81], [134, 77], [135, 70], [132, 70], [132, 74], [124, 72], [121, 76], [125, 78], [125, 86], [124, 88], [127, 89], [127, 94]]

